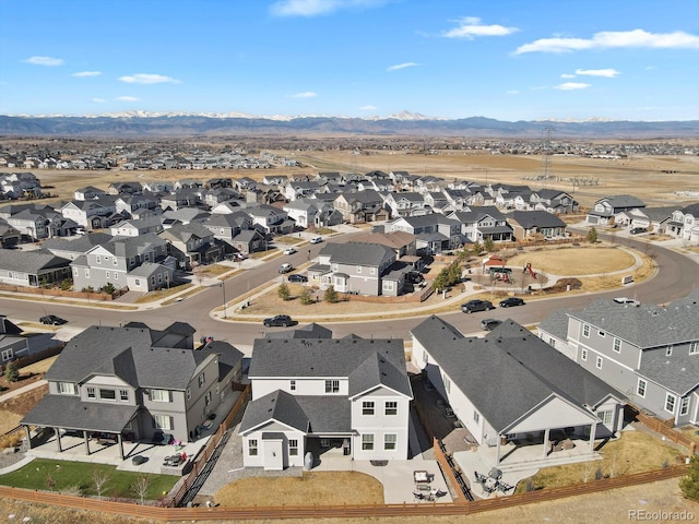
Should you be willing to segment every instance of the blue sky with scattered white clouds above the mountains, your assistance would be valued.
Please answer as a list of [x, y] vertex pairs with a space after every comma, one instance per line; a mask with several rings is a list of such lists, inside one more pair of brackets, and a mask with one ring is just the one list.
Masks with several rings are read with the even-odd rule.
[[697, 0], [0, 0], [0, 114], [699, 119]]

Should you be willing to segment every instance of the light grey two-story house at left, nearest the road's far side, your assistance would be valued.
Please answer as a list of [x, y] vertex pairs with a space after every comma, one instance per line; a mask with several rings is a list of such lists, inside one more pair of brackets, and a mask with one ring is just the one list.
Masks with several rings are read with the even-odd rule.
[[[129, 287], [133, 290], [150, 291], [168, 287], [173, 283], [175, 264], [173, 261], [168, 266], [162, 265], [167, 258], [167, 242], [152, 233], [139, 237], [115, 237], [95, 246], [70, 263], [73, 288], [100, 289], [111, 284], [117, 289]], [[144, 263], [153, 264], [146, 266], [147, 279], [144, 279], [145, 270], [139, 270]], [[130, 274], [139, 279], [138, 285], [133, 282], [132, 286], [129, 286]]]

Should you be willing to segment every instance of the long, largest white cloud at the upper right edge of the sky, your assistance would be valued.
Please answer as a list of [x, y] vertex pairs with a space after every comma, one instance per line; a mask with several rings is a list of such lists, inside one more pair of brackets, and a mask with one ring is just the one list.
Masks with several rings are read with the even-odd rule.
[[682, 31], [675, 33], [649, 33], [643, 29], [603, 31], [592, 38], [541, 38], [524, 44], [514, 51], [524, 52], [570, 52], [584, 49], [649, 48], [649, 49], [699, 49], [699, 36]]

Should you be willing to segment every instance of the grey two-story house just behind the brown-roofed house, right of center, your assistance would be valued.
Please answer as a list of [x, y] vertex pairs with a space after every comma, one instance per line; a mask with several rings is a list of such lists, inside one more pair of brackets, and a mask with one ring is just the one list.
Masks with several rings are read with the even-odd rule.
[[403, 216], [386, 223], [386, 233], [405, 231], [416, 237], [417, 252], [437, 254], [461, 246], [461, 224], [439, 213]]

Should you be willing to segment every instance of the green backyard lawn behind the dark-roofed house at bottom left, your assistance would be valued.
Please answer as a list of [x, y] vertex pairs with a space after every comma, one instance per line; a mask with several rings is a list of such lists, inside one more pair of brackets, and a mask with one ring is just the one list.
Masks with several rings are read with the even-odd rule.
[[140, 499], [135, 484], [146, 479], [145, 499], [156, 500], [168, 492], [178, 478], [175, 475], [143, 475], [117, 471], [116, 466], [86, 462], [64, 462], [36, 458], [26, 466], [0, 475], [0, 484], [14, 488], [60, 491], [62, 493], [97, 496], [96, 476], [107, 476], [102, 496], [105, 498]]

